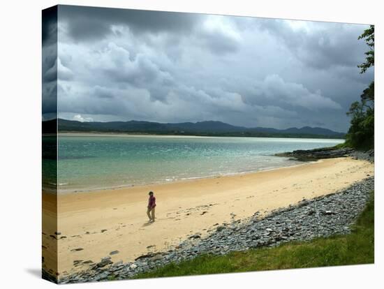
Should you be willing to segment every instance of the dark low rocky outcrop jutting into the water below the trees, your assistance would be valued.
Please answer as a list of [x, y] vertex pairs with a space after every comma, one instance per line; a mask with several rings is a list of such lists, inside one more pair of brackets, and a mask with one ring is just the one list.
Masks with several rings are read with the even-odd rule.
[[276, 156], [286, 156], [295, 161], [317, 161], [321, 158], [340, 158], [344, 156], [351, 156], [353, 158], [362, 159], [371, 163], [374, 162], [373, 149], [369, 151], [356, 151], [355, 149], [351, 149], [348, 147], [342, 149], [337, 149], [334, 147], [324, 147], [321, 149], [308, 150], [299, 149], [296, 151], [276, 154]]

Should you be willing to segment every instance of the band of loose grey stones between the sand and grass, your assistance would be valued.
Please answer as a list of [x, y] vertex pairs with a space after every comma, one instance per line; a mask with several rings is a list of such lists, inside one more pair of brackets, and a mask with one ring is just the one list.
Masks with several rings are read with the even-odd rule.
[[195, 233], [175, 249], [148, 253], [134, 262], [112, 263], [103, 258], [87, 271], [62, 276], [59, 283], [129, 279], [171, 262], [191, 260], [202, 254], [223, 255], [284, 242], [307, 241], [316, 237], [347, 234], [374, 189], [374, 177], [353, 184], [344, 191], [313, 200], [303, 199], [297, 205], [277, 209], [261, 217], [256, 212], [246, 220], [217, 225], [206, 237]]

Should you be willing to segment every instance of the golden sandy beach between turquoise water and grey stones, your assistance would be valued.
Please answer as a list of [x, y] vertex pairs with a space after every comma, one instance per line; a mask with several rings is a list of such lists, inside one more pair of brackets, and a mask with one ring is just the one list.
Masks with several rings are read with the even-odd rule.
[[[334, 193], [369, 175], [374, 175], [371, 163], [332, 158], [244, 175], [58, 195], [61, 235], [56, 242], [50, 236], [54, 232], [43, 232], [44, 266], [67, 274], [89, 266], [75, 267], [74, 260], [100, 262], [112, 251], [119, 251], [111, 255], [113, 262], [128, 262], [172, 249], [189, 235], [204, 236], [216, 224]], [[156, 195], [155, 223], [147, 223], [148, 191]], [[55, 198], [43, 193], [43, 202], [46, 223], [54, 223]], [[49, 228], [54, 225], [43, 225], [43, 230]], [[58, 251], [58, 264], [50, 256], [52, 249]]]

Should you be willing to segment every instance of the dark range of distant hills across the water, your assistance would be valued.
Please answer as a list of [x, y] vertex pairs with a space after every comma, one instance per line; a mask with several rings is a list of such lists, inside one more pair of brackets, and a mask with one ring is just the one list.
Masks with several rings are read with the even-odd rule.
[[[43, 121], [44, 128], [55, 126], [56, 120]], [[58, 119], [59, 131], [69, 132], [114, 132], [114, 133], [151, 133], [165, 135], [217, 135], [217, 136], [259, 136], [259, 137], [292, 137], [292, 138], [344, 138], [344, 133], [327, 128], [246, 128], [232, 126], [221, 121], [182, 122], [177, 124], [161, 124], [151, 121], [108, 121], [80, 122]]]

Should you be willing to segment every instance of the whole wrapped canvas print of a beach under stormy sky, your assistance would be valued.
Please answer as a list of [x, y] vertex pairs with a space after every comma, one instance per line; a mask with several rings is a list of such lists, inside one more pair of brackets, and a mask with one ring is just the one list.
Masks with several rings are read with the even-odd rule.
[[43, 10], [43, 278], [374, 262], [374, 26]]

